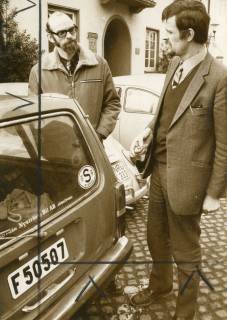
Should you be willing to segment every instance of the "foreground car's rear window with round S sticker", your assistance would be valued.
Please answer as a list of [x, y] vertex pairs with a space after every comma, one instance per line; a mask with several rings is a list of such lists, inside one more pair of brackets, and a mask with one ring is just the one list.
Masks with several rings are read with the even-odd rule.
[[26, 236], [38, 216], [45, 223], [80, 199], [96, 175], [80, 127], [67, 115], [0, 128], [0, 246]]

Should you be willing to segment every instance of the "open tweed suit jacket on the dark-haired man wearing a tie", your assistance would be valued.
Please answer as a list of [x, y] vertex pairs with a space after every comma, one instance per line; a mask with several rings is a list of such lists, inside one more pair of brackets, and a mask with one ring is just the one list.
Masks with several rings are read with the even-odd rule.
[[[172, 60], [160, 96], [154, 130], [166, 88], [179, 64]], [[152, 171], [151, 143], [144, 177]], [[219, 198], [227, 182], [227, 69], [209, 53], [199, 66], [177, 108], [166, 136], [167, 191], [172, 210], [201, 212], [206, 194]]]

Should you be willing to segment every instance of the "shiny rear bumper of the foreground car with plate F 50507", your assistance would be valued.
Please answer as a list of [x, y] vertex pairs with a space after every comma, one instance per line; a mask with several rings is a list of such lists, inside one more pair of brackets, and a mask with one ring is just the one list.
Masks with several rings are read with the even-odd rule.
[[[118, 239], [117, 243], [111, 248], [102, 259], [93, 264], [89, 271], [66, 292], [63, 298], [51, 306], [49, 310], [39, 316], [40, 320], [66, 320], [69, 319], [95, 292], [95, 284], [100, 287], [111, 279], [126, 262], [132, 251], [131, 242], [125, 237]], [[84, 290], [84, 291], [83, 291]]]

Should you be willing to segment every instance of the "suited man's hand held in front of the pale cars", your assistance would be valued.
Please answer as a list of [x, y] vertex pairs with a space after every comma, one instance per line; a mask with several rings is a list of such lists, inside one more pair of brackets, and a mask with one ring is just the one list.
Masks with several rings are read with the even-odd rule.
[[[139, 134], [132, 142], [130, 146], [130, 157], [135, 158], [136, 156], [144, 155], [147, 151], [148, 141], [147, 138], [152, 133], [150, 128], [146, 128], [141, 134]], [[151, 141], [151, 139], [149, 139]]]

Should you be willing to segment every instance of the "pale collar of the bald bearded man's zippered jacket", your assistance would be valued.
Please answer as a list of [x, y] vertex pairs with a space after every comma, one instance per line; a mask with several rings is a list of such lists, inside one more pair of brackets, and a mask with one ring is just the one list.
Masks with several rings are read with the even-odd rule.
[[[78, 61], [76, 70], [78, 70], [82, 66], [96, 66], [98, 64], [98, 60], [96, 59], [95, 54], [92, 51], [83, 48], [80, 44], [78, 44], [78, 46], [79, 46], [80, 53], [79, 53], [79, 61]], [[43, 57], [42, 69], [43, 70], [61, 69], [65, 71], [64, 65], [60, 60], [59, 53], [56, 47], [51, 53]]]

